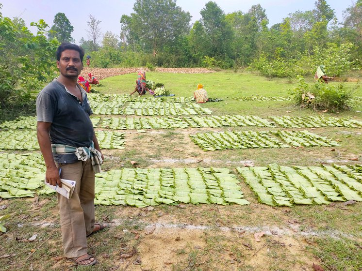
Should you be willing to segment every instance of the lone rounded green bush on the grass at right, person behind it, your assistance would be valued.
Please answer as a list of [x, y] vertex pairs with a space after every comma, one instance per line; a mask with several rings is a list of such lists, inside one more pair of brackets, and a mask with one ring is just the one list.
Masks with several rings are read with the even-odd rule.
[[308, 85], [303, 76], [297, 77], [298, 86], [289, 92], [296, 105], [330, 111], [348, 108], [346, 102], [352, 96], [352, 91], [347, 90], [344, 84], [334, 86], [318, 81]]

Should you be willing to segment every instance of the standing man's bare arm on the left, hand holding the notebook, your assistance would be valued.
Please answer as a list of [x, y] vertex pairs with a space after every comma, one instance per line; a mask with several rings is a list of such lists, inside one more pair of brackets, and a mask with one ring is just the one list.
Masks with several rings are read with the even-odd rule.
[[51, 185], [58, 184], [59, 187], [62, 187], [59, 171], [55, 165], [53, 154], [51, 152], [51, 142], [49, 137], [50, 125], [51, 122], [38, 121], [36, 135], [38, 137], [40, 151], [43, 154], [45, 165], [47, 166], [45, 180]]

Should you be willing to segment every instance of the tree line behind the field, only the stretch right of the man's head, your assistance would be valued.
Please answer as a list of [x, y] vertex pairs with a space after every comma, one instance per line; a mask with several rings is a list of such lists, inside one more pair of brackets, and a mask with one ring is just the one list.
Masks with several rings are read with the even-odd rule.
[[120, 19], [120, 42], [107, 32], [102, 46], [95, 49], [92, 41], [84, 40], [82, 46], [100, 67], [249, 66], [278, 77], [311, 74], [319, 64], [336, 76], [360, 69], [362, 0], [346, 9], [342, 23], [326, 0], [317, 0], [311, 8], [269, 28], [260, 4], [247, 13], [225, 14], [210, 1], [200, 11], [201, 19], [190, 26], [190, 14], [175, 0], [136, 0], [134, 12]]

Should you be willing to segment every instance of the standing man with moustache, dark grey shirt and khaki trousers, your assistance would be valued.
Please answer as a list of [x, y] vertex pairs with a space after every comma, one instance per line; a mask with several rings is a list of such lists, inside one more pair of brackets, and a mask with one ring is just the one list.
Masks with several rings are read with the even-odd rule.
[[79, 266], [94, 265], [87, 237], [108, 225], [95, 223], [94, 174], [100, 171], [103, 154], [89, 118], [93, 112], [87, 94], [77, 84], [84, 50], [62, 43], [56, 57], [60, 75], [36, 98], [37, 138], [47, 166], [46, 182], [62, 187], [60, 177], [76, 181], [70, 199], [57, 195], [64, 254]]

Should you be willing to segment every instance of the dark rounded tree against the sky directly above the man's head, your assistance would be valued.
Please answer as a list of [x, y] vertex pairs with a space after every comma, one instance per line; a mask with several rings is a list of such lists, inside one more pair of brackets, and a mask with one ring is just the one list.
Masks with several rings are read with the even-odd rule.
[[57, 38], [60, 43], [74, 43], [74, 39], [71, 37], [73, 27], [64, 13], [58, 12], [54, 16], [53, 23], [49, 31], [49, 39]]

